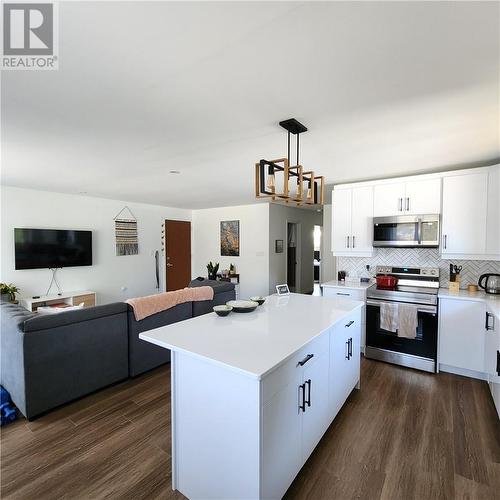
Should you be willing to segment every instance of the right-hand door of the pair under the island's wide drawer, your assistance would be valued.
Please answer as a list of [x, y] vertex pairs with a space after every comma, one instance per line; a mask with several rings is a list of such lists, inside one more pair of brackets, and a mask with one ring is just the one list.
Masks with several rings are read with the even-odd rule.
[[328, 352], [304, 366], [305, 411], [302, 413], [302, 463], [308, 459], [330, 423]]

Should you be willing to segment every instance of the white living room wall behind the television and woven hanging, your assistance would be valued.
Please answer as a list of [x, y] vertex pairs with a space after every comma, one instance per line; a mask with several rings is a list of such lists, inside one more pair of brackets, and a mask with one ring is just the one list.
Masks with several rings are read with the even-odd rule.
[[[190, 210], [88, 196], [6, 186], [1, 195], [0, 280], [14, 283], [25, 296], [45, 294], [51, 273], [48, 269], [14, 269], [15, 227], [92, 230], [93, 265], [61, 269], [58, 278], [63, 291], [93, 290], [102, 304], [155, 293], [153, 253], [159, 250], [161, 255], [162, 223], [165, 219], [191, 219]], [[139, 254], [117, 257], [113, 217], [125, 205], [138, 219]], [[163, 268], [160, 277], [163, 280]]]

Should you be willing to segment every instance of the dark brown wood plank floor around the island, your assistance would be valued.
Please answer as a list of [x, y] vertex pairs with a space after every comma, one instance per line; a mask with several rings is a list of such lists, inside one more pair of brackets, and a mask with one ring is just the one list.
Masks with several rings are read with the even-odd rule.
[[[500, 499], [500, 423], [484, 382], [364, 359], [286, 499]], [[162, 367], [1, 433], [1, 497], [184, 498], [170, 488]]]

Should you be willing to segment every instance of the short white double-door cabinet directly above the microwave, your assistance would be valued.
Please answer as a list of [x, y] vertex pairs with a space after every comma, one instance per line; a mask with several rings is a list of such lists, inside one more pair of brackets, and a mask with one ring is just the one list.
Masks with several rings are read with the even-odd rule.
[[377, 184], [374, 187], [373, 216], [439, 214], [441, 179], [415, 179]]

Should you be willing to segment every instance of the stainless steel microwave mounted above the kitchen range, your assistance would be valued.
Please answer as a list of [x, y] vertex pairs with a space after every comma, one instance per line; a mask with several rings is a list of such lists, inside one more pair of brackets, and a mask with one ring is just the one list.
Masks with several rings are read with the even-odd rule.
[[438, 247], [439, 215], [373, 218], [374, 247]]

